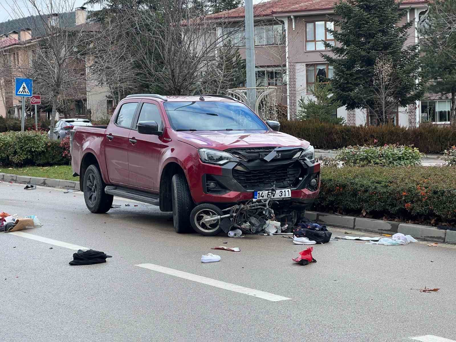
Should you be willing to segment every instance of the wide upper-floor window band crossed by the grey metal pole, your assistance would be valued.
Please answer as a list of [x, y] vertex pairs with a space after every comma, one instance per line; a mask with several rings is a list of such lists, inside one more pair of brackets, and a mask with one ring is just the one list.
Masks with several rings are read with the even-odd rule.
[[[224, 27], [223, 36], [231, 39], [235, 46], [245, 46], [245, 29], [240, 27]], [[225, 38], [224, 38], [225, 39]], [[254, 27], [255, 46], [282, 45], [285, 41], [283, 25], [260, 25]]]

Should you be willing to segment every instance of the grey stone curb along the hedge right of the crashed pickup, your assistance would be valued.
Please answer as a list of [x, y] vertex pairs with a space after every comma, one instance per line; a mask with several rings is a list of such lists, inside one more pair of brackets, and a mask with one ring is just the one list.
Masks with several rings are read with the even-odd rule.
[[307, 211], [306, 218], [318, 223], [338, 228], [355, 229], [370, 233], [389, 234], [403, 233], [422, 240], [456, 244], [456, 231], [437, 229], [419, 224], [399, 223], [393, 221], [375, 220], [373, 218], [358, 218], [330, 214], [327, 212]]

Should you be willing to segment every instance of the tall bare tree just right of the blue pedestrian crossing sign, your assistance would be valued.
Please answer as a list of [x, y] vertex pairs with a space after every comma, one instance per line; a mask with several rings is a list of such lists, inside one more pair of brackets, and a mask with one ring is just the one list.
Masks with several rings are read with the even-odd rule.
[[[86, 58], [96, 26], [78, 25], [70, 16], [61, 13], [73, 11], [73, 0], [14, 0], [11, 11], [16, 18], [32, 16], [34, 43], [28, 63], [16, 67], [16, 74], [33, 77], [39, 89], [52, 104], [50, 129], [60, 107], [70, 98], [85, 96], [87, 85]], [[65, 114], [65, 113], [64, 113]], [[52, 139], [52, 135], [51, 135]]]

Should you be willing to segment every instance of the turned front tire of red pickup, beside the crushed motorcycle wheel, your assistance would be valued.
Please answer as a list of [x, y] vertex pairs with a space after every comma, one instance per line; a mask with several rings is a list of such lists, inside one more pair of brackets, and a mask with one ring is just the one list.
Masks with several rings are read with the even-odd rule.
[[193, 200], [185, 176], [176, 173], [171, 180], [172, 218], [176, 233], [187, 233], [190, 228], [190, 212]]

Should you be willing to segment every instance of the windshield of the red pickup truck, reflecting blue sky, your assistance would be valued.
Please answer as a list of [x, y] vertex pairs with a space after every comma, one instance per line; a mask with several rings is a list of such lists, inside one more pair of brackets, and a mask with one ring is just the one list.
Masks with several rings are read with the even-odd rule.
[[269, 130], [246, 105], [238, 102], [166, 102], [174, 130]]

